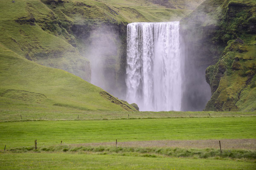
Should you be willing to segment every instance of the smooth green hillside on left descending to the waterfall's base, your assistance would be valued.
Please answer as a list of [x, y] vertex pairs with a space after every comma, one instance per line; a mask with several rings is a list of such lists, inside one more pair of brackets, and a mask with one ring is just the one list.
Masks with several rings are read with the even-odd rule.
[[[12, 105], [40, 111], [64, 109], [84, 111], [124, 111], [104, 99], [102, 89], [59, 69], [47, 68], [20, 57], [0, 45], [1, 107]], [[124, 105], [125, 106], [125, 105]], [[64, 108], [61, 108], [64, 107]], [[127, 107], [127, 106], [126, 106]]]

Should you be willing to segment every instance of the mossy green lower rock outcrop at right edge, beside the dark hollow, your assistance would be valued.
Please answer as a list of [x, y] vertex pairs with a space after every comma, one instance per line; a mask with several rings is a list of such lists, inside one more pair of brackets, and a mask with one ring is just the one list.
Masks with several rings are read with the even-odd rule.
[[[213, 75], [209, 75], [211, 73]], [[256, 110], [256, 88], [253, 87], [255, 73], [256, 44], [231, 40], [217, 64], [207, 69], [209, 84], [218, 87], [212, 89], [213, 95], [207, 110]]]

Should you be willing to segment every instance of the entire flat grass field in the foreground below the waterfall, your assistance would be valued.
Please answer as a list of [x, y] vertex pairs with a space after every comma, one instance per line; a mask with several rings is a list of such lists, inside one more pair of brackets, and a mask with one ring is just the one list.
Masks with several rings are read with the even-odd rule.
[[[131, 117], [137, 113], [137, 119], [117, 118], [127, 113], [131, 114], [87, 113], [90, 119], [111, 117], [105, 120], [13, 121], [11, 118], [8, 121], [6, 117], [2, 119], [6, 122], [0, 122], [0, 167], [3, 170], [254, 170], [256, 167], [254, 113], [134, 112]], [[159, 117], [140, 119], [154, 114]], [[188, 114], [194, 117], [189, 118]], [[69, 119], [67, 115], [60, 114], [58, 119]], [[168, 115], [170, 118], [161, 118]], [[222, 153], [218, 140], [222, 143]]]

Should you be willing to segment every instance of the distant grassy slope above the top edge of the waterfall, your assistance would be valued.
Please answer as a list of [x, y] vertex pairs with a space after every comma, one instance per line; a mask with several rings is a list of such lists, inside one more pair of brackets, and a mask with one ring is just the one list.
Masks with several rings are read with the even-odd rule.
[[[44, 0], [44, 2], [46, 1]], [[64, 0], [64, 3], [58, 3], [52, 7], [57, 7], [75, 23], [84, 23], [82, 19], [118, 23], [177, 21], [192, 11], [188, 6], [195, 7], [201, 3], [200, 0], [192, 0], [186, 4], [176, 1], [175, 3], [182, 7], [168, 8], [148, 0], [74, 0], [66, 2]], [[76, 12], [70, 11], [72, 9], [75, 9]], [[58, 11], [54, 8], [52, 10]]]

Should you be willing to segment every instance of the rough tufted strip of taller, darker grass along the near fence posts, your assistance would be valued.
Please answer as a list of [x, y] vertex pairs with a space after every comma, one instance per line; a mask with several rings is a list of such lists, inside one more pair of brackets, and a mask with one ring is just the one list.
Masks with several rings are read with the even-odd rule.
[[189, 157], [189, 158], [215, 158], [215, 159], [247, 159], [252, 161], [256, 159], [256, 151], [251, 150], [222, 150], [219, 149], [180, 149], [180, 148], [161, 148], [161, 147], [111, 147], [99, 146], [88, 147], [69, 145], [59, 145], [56, 147], [41, 147], [35, 150], [34, 147], [22, 147], [6, 150], [8, 153], [87, 153], [104, 154], [120, 156], [141, 156], [141, 157]]

